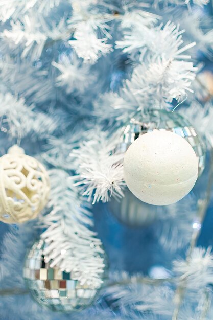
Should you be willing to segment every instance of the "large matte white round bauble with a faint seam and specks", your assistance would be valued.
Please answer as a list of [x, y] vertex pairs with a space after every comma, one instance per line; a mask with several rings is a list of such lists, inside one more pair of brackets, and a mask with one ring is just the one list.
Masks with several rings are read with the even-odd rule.
[[127, 187], [141, 201], [175, 203], [188, 194], [198, 177], [191, 145], [176, 133], [154, 130], [139, 136], [124, 157]]

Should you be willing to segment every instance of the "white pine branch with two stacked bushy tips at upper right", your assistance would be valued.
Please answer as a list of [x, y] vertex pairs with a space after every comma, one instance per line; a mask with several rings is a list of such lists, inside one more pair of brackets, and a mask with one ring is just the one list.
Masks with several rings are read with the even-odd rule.
[[191, 58], [183, 53], [195, 43], [182, 46], [183, 32], [170, 21], [164, 27], [161, 24], [155, 28], [141, 24], [141, 28], [130, 28], [124, 40], [116, 42], [117, 48], [123, 48], [133, 59], [140, 54], [140, 63], [131, 79], [126, 80], [121, 95], [131, 101], [127, 104], [130, 110], [135, 108], [136, 113], [153, 105], [164, 107], [173, 99], [179, 102], [187, 97], [187, 92], [193, 92], [190, 86], [196, 68], [182, 59]]

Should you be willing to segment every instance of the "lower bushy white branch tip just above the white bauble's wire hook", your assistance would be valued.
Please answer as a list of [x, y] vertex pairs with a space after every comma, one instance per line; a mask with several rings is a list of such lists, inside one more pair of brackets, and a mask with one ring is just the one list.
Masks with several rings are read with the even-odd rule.
[[150, 105], [165, 106], [173, 99], [186, 98], [195, 78], [196, 68], [192, 62], [158, 59], [150, 64], [141, 64], [134, 68], [131, 80], [126, 81], [125, 90], [130, 90], [138, 101], [138, 109]]

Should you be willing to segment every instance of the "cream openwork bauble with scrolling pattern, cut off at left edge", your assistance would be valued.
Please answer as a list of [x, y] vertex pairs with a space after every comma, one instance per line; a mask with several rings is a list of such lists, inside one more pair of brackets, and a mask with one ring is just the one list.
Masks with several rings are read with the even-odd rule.
[[48, 201], [49, 176], [43, 165], [14, 145], [0, 157], [0, 220], [23, 223], [37, 217]]

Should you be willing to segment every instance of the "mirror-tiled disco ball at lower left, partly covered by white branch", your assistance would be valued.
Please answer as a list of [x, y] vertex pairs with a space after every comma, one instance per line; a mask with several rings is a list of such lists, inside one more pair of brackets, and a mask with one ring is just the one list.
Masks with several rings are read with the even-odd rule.
[[[72, 279], [72, 272], [50, 268], [50, 262], [45, 263], [43, 249], [45, 242], [38, 240], [28, 253], [23, 277], [33, 298], [42, 306], [53, 311], [71, 312], [82, 310], [97, 300], [100, 288], [91, 289]], [[101, 256], [101, 255], [100, 255]], [[103, 254], [104, 262], [106, 257]], [[107, 263], [105, 263], [107, 264]], [[102, 279], [107, 277], [105, 270]]]

